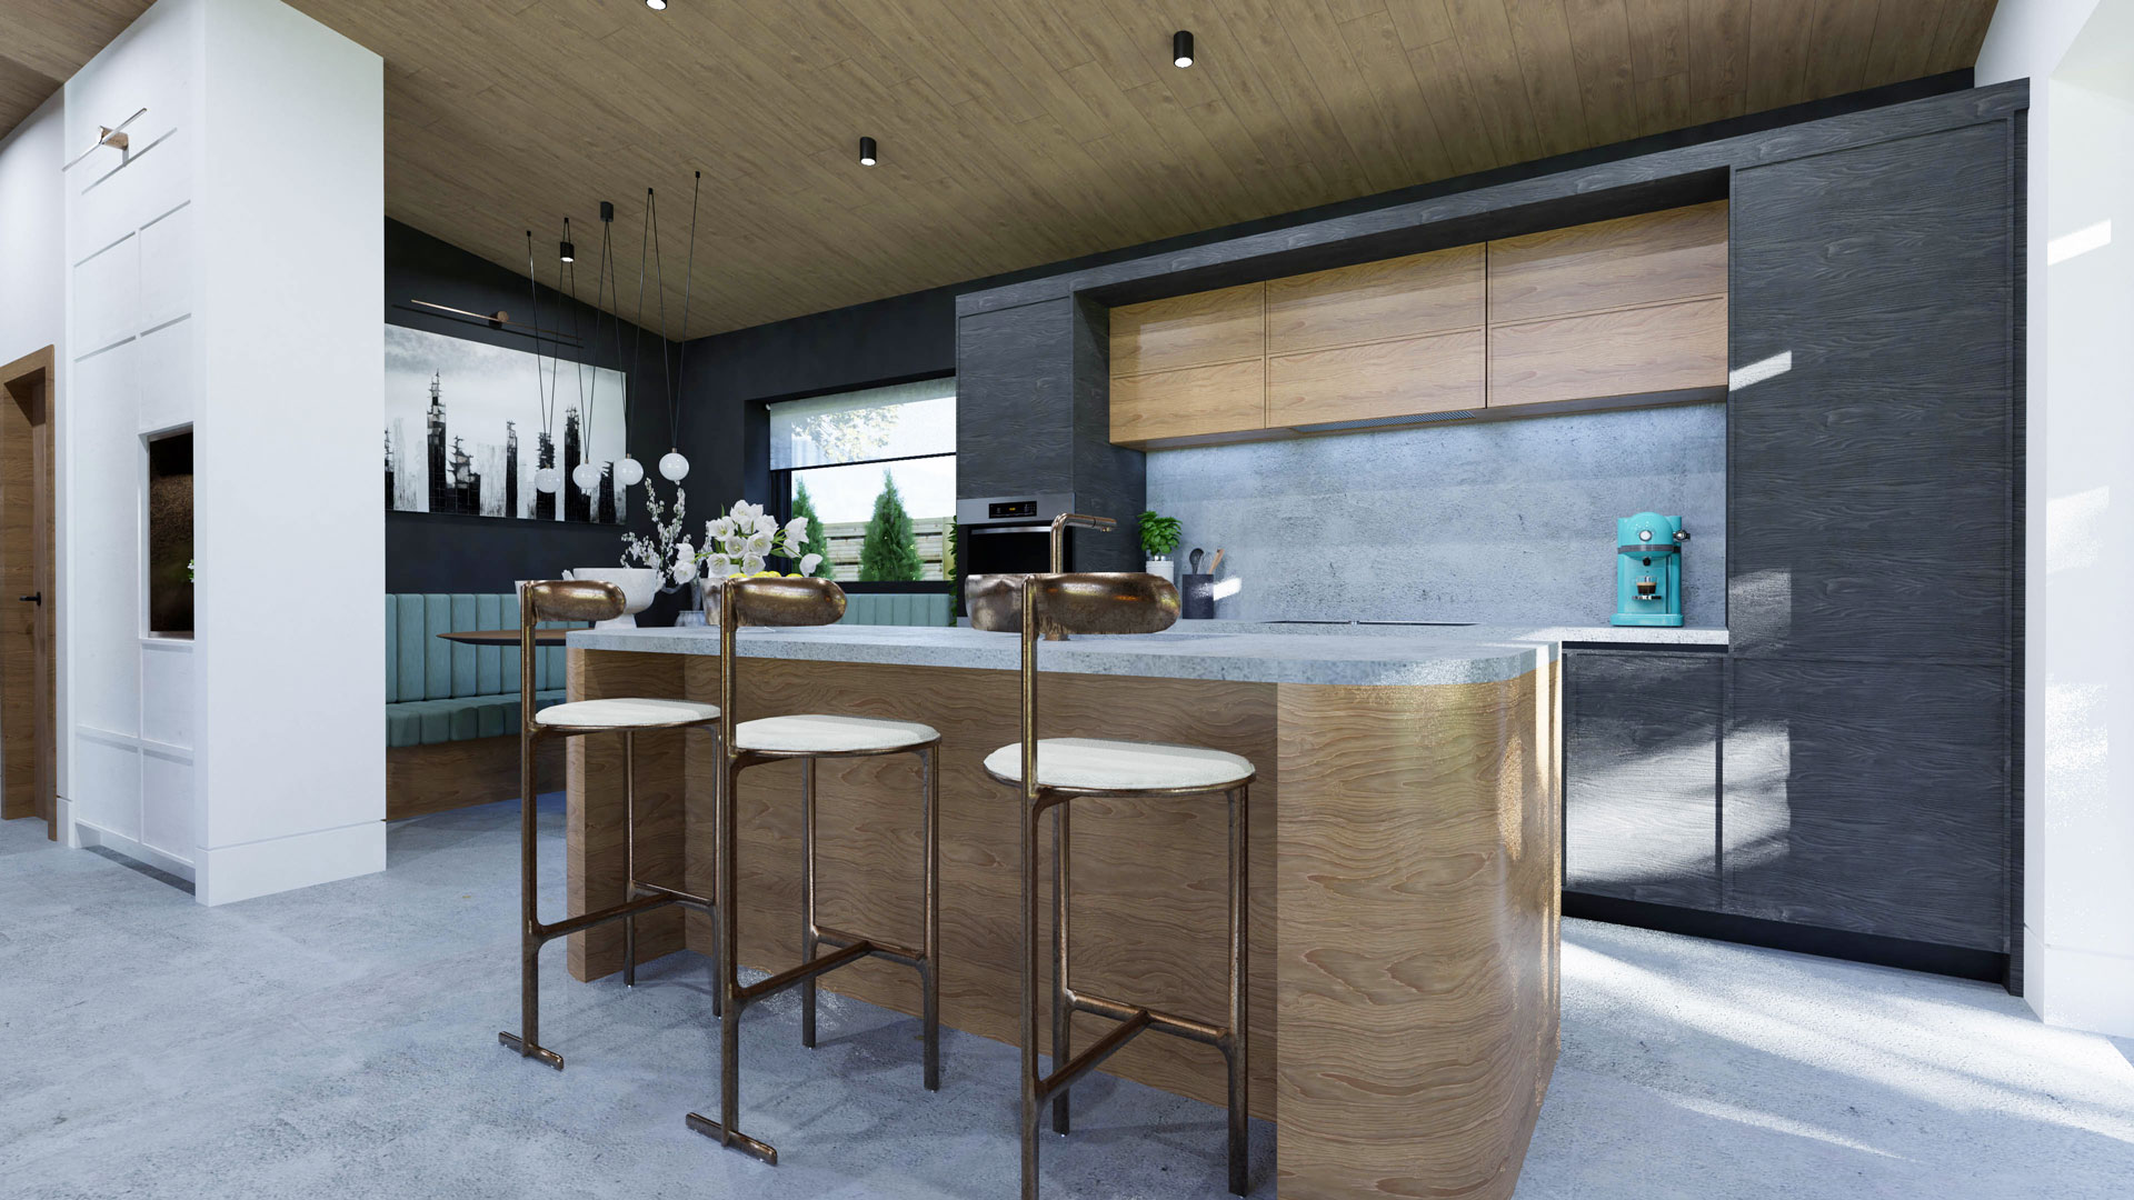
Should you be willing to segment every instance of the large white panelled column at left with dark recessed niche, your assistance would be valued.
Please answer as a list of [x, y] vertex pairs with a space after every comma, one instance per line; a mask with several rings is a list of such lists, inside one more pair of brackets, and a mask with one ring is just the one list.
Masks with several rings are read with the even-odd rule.
[[[62, 453], [85, 839], [228, 903], [384, 869], [384, 79], [277, 0], [160, 0], [66, 85]], [[194, 429], [196, 636], [145, 628], [145, 433]]]

